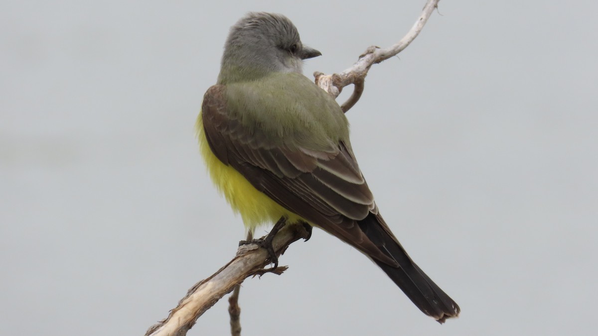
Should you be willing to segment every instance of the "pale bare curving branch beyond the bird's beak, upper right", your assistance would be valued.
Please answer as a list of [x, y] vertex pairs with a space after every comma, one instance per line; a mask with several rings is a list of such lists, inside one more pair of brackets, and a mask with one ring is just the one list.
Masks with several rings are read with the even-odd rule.
[[349, 109], [355, 105], [357, 100], [359, 100], [359, 97], [361, 97], [361, 93], [364, 90], [365, 76], [367, 76], [370, 67], [374, 63], [380, 63], [383, 60], [396, 56], [396, 54], [407, 48], [407, 45], [409, 45], [422, 31], [423, 26], [428, 22], [432, 12], [438, 7], [439, 1], [440, 0], [428, 0], [426, 2], [422, 14], [417, 18], [413, 27], [411, 27], [407, 35], [405, 35], [401, 41], [385, 49], [376, 46], [367, 48], [367, 50], [359, 56], [359, 60], [355, 62], [353, 66], [340, 74], [324, 75], [321, 72], [315, 72], [313, 76], [316, 78], [316, 84], [335, 98], [341, 93], [343, 87], [355, 84], [353, 94], [343, 103], [343, 105], [341, 105], [343, 112], [349, 111]]

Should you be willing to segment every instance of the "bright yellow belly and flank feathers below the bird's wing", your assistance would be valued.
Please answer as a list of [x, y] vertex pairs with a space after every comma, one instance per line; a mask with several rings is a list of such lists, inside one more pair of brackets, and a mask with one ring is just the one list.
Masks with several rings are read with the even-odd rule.
[[216, 155], [213, 154], [212, 149], [210, 149], [205, 132], [203, 132], [201, 112], [199, 117], [197, 117], [196, 129], [200, 151], [202, 152], [203, 159], [206, 161], [210, 178], [212, 178], [216, 188], [224, 195], [234, 212], [241, 215], [245, 227], [254, 231], [260, 225], [274, 224], [282, 216], [286, 216], [289, 222], [296, 222], [302, 219], [297, 214], [286, 210], [271, 200], [266, 194], [255, 189], [233, 167], [227, 166], [218, 160]]

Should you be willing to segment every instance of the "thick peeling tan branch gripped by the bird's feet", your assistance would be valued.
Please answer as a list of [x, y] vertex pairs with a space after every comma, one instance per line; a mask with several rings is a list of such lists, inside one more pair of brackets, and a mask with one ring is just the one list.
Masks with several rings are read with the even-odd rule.
[[[274, 236], [272, 246], [276, 255], [281, 255], [292, 242], [307, 237], [306, 228], [302, 224], [287, 224]], [[264, 270], [269, 263], [266, 249], [258, 248], [257, 245], [240, 246], [237, 255], [230, 262], [189, 289], [169, 316], [151, 326], [145, 336], [186, 335], [198, 317], [246, 278], [265, 273], [280, 274], [286, 269], [281, 266]]]

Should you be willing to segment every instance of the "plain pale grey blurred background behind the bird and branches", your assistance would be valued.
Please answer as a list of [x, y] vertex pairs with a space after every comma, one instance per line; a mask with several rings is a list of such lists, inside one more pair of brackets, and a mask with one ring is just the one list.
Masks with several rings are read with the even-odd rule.
[[[3, 1], [0, 334], [143, 334], [233, 256], [244, 229], [193, 127], [246, 11], [294, 21], [324, 54], [311, 78], [398, 41], [423, 3]], [[593, 334], [596, 13], [442, 1], [348, 114], [386, 221], [459, 319], [438, 325], [314, 231], [283, 276], [243, 283], [243, 335]], [[190, 334], [227, 334], [226, 308]]]

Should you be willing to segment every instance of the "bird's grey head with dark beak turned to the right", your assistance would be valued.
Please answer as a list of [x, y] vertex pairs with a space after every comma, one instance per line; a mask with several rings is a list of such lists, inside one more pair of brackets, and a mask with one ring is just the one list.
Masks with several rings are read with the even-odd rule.
[[228, 33], [218, 83], [253, 80], [271, 72], [301, 73], [303, 60], [319, 55], [301, 43], [287, 17], [248, 13]]

